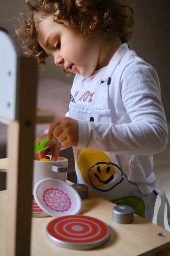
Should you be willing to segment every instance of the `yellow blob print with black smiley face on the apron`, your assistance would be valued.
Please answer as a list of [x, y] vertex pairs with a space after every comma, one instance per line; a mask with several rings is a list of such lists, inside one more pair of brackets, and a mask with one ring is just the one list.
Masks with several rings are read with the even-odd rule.
[[[114, 180], [116, 174], [115, 168], [118, 171], [120, 169], [111, 163], [110, 158], [104, 152], [90, 148], [79, 148], [77, 151], [77, 166], [79, 167], [83, 180], [99, 191], [109, 191], [117, 185], [111, 181]], [[123, 180], [122, 171], [120, 170], [119, 172], [121, 180]], [[111, 184], [111, 186], [108, 185], [108, 189], [103, 190], [102, 186], [107, 184]]]

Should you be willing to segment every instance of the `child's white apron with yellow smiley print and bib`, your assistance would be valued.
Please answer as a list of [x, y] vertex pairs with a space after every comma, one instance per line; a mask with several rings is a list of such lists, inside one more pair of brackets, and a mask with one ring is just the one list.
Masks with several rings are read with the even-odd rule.
[[[108, 86], [114, 70], [108, 76], [106, 70], [100, 86], [99, 105], [89, 108], [74, 102], [71, 97], [69, 117], [91, 122], [111, 123], [111, 109], [108, 105]], [[77, 83], [78, 86], [78, 83]], [[76, 87], [74, 90], [76, 91]], [[161, 196], [157, 224], [164, 227], [164, 205], [167, 201], [163, 190], [155, 189], [150, 194], [143, 194], [135, 183], [130, 183], [121, 169], [116, 155], [109, 152], [91, 150], [90, 148], [73, 147], [75, 169], [79, 183], [89, 187], [89, 191], [112, 201], [115, 204], [124, 204], [132, 207], [135, 214], [152, 221], [157, 193]], [[133, 156], [132, 156], [133, 157]], [[127, 161], [130, 168], [131, 159]], [[168, 201], [167, 201], [167, 204]], [[170, 211], [169, 211], [170, 213]], [[168, 219], [169, 221], [169, 219]]]

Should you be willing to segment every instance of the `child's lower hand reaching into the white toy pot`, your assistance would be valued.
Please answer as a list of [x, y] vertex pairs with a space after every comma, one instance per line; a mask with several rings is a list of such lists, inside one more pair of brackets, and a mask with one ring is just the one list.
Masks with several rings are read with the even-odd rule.
[[[37, 143], [37, 145], [40, 145], [42, 140], [44, 140], [46, 137], [47, 137], [47, 134], [41, 134], [40, 136], [38, 136], [35, 139], [35, 142]], [[47, 155], [49, 152], [52, 152], [51, 161], [57, 161], [57, 159], [59, 157], [59, 151], [61, 149], [61, 144], [57, 141], [56, 138], [52, 137], [52, 139], [45, 144], [45, 147], [48, 147], [48, 146], [49, 146], [49, 148], [44, 149], [44, 150], [39, 151], [39, 152], [35, 152], [35, 154], [40, 159], [42, 159], [42, 158], [45, 158], [45, 155]]]

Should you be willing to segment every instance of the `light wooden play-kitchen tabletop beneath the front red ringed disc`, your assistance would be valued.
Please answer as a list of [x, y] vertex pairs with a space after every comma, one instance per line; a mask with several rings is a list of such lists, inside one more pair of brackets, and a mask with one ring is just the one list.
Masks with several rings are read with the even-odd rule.
[[[69, 184], [72, 184], [68, 181]], [[7, 191], [0, 192], [0, 256], [6, 255], [6, 204]], [[104, 221], [111, 228], [108, 244], [95, 250], [68, 250], [51, 244], [45, 237], [45, 227], [53, 219], [32, 218], [31, 256], [169, 256], [170, 232], [135, 215], [132, 224], [118, 224], [112, 221], [112, 208], [115, 205], [89, 192], [82, 200], [81, 215], [89, 215]], [[23, 206], [24, 207], [24, 206]], [[12, 210], [12, 209], [11, 209]], [[24, 212], [24, 211], [23, 211]], [[158, 234], [163, 233], [161, 237]], [[24, 252], [23, 252], [24, 255]]]

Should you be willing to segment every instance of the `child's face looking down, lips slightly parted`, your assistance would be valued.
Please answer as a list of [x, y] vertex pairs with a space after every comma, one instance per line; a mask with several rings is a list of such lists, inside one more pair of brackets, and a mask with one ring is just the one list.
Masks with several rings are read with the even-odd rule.
[[[54, 23], [49, 16], [37, 24], [37, 40], [41, 47], [54, 57], [57, 66], [81, 76], [91, 76], [99, 66], [101, 41], [94, 33], [85, 37], [69, 26]], [[50, 36], [50, 37], [49, 37]], [[49, 37], [48, 43], [45, 41]]]

